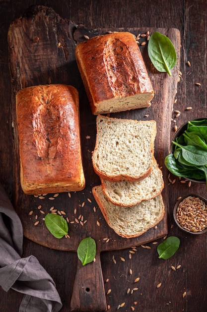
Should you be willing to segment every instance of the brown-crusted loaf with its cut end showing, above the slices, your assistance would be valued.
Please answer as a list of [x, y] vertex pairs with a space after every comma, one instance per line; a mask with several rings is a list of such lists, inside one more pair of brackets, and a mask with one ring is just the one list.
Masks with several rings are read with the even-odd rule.
[[132, 33], [93, 37], [79, 43], [75, 55], [92, 114], [150, 106], [154, 92]]

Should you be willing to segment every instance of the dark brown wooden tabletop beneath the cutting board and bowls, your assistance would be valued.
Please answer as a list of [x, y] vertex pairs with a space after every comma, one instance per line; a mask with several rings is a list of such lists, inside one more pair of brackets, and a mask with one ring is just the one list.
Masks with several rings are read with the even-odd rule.
[[[10, 116], [11, 82], [8, 67], [7, 31], [10, 23], [24, 13], [36, 0], [0, 0], [0, 182], [12, 201], [14, 187], [12, 125]], [[175, 117], [172, 112], [171, 136], [175, 124], [179, 128], [184, 122], [207, 117], [207, 4], [206, 0], [42, 0], [42, 5], [52, 7], [61, 17], [84, 24], [88, 28], [110, 27], [164, 27], [178, 28], [181, 32], [182, 73], [174, 110], [181, 112]], [[188, 61], [191, 66], [188, 65]], [[200, 83], [198, 86], [196, 83]], [[192, 107], [187, 110], [187, 107]], [[174, 122], [176, 121], [176, 122]], [[169, 142], [170, 144], [170, 142]], [[174, 177], [172, 176], [173, 180]], [[205, 312], [207, 311], [207, 236], [191, 236], [180, 231], [172, 218], [172, 209], [179, 196], [196, 193], [207, 196], [206, 186], [192, 183], [191, 186], [169, 181], [169, 233], [181, 240], [180, 249], [169, 260], [158, 259], [156, 246], [138, 246], [134, 254], [130, 250], [101, 253], [105, 291], [110, 311], [142, 312]], [[158, 240], [162, 242], [163, 238]], [[70, 300], [74, 282], [77, 257], [74, 252], [48, 249], [24, 239], [24, 257], [33, 254], [54, 279], [63, 302], [61, 311], [70, 311]], [[120, 257], [126, 259], [121, 261]], [[116, 259], [116, 264], [113, 261]], [[174, 266], [176, 271], [171, 267]], [[129, 274], [140, 277], [135, 285]], [[157, 288], [157, 285], [161, 286]], [[133, 294], [127, 289], [137, 287]], [[186, 292], [186, 296], [183, 294]], [[0, 289], [0, 312], [18, 311], [22, 294]], [[12, 307], [12, 308], [11, 308]]]

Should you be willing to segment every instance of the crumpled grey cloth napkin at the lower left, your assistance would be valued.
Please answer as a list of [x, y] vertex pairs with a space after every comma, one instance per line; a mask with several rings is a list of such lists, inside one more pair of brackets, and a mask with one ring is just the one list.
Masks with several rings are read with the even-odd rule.
[[0, 184], [0, 286], [25, 294], [19, 312], [60, 311], [63, 305], [53, 279], [36, 257], [21, 258], [22, 251], [22, 224]]

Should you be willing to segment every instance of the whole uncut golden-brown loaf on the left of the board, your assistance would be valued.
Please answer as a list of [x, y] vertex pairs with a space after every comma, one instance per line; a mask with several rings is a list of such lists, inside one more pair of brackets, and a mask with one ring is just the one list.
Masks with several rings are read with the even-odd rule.
[[61, 84], [22, 89], [16, 95], [16, 115], [24, 193], [82, 190], [77, 90]]

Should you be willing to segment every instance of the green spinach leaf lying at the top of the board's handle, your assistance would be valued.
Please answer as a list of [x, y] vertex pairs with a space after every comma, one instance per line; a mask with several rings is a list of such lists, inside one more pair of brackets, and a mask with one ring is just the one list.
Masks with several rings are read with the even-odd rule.
[[77, 256], [83, 266], [92, 262], [96, 256], [95, 240], [91, 237], [84, 238], [77, 247]]

